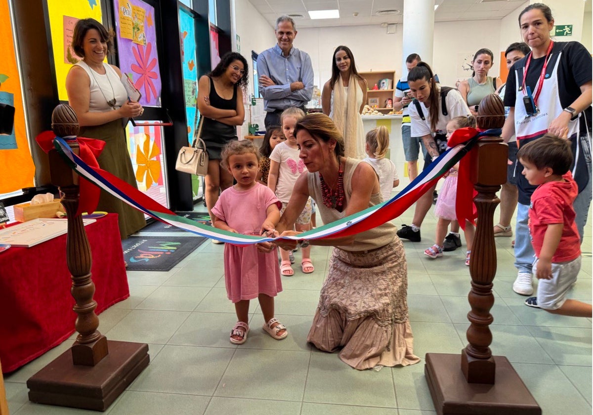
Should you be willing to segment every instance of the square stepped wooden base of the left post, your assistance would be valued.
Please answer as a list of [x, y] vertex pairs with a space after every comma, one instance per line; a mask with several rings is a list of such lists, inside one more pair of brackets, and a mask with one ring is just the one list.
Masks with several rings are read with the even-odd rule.
[[34, 403], [104, 411], [148, 366], [148, 344], [112, 341], [95, 366], [74, 365], [66, 350], [27, 381]]

